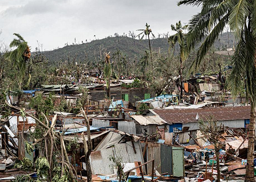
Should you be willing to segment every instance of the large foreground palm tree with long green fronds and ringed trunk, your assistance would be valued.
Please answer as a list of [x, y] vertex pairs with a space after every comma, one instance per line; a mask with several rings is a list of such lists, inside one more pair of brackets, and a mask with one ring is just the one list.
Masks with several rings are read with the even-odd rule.
[[[233, 96], [237, 96], [241, 88], [246, 88], [246, 96], [250, 99], [251, 114], [247, 151], [246, 181], [254, 181], [253, 154], [255, 138], [255, 106], [256, 106], [256, 1], [250, 0], [184, 0], [178, 5], [201, 6], [201, 12], [194, 15], [189, 22], [186, 42], [187, 49], [193, 49], [201, 42], [196, 59], [191, 65], [195, 73], [201, 60], [213, 46], [218, 35], [228, 25], [238, 38], [236, 51], [232, 56], [233, 69], [228, 82]], [[218, 169], [219, 172], [219, 169]], [[218, 176], [218, 181], [220, 181]]]

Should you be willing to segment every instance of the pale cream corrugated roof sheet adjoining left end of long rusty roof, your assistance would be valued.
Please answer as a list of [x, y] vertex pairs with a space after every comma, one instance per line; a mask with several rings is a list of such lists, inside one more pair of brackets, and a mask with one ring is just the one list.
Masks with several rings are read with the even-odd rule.
[[166, 122], [158, 115], [143, 117], [142, 115], [131, 115], [140, 125], [164, 125]]

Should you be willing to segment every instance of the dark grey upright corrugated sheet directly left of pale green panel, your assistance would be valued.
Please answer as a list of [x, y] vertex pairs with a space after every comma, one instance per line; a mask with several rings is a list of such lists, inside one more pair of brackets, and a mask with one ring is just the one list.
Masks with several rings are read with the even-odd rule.
[[172, 146], [161, 144], [161, 173], [172, 175]]

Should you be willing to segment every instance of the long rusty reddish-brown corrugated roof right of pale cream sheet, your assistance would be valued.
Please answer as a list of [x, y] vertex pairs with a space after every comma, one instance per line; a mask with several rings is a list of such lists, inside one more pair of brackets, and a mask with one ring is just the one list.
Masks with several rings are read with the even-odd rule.
[[242, 120], [250, 118], [250, 106], [210, 107], [201, 109], [154, 109], [152, 113], [159, 115], [168, 124], [197, 122], [199, 119], [213, 116], [217, 121]]

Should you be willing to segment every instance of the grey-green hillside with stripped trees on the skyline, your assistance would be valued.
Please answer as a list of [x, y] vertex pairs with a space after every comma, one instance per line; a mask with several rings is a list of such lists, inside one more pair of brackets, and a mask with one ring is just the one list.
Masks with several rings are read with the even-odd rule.
[[[233, 47], [234, 36], [232, 33], [224, 33], [219, 36], [215, 43], [217, 49], [224, 49], [225, 47]], [[168, 41], [167, 38], [152, 39], [152, 50], [167, 53]], [[63, 48], [55, 49], [53, 51], [45, 51], [44, 55], [51, 61], [67, 60], [69, 57], [76, 57], [76, 60], [95, 60], [100, 57], [100, 52], [114, 53], [119, 49], [123, 55], [134, 58], [141, 57], [144, 51], [148, 50], [148, 40], [132, 39], [125, 36], [108, 37], [101, 40], [93, 40], [89, 43], [78, 45], [65, 46]]]

